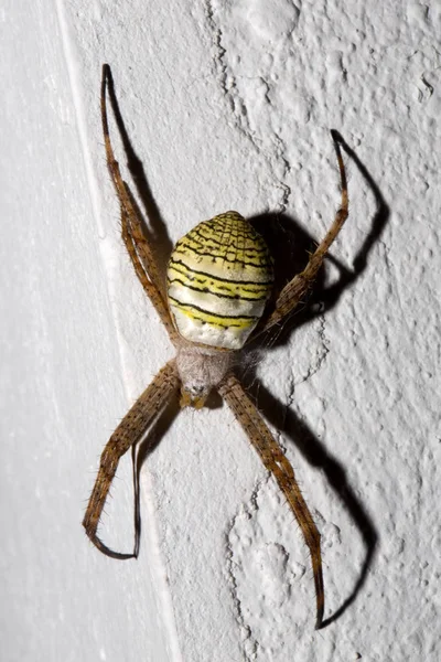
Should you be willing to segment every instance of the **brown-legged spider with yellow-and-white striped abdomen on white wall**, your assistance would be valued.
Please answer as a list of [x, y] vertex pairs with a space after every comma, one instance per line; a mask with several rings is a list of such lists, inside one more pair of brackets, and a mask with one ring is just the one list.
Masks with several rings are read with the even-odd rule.
[[304, 300], [323, 259], [348, 214], [347, 181], [338, 143], [336, 152], [342, 201], [324, 239], [310, 255], [306, 267], [275, 298], [267, 301], [273, 282], [272, 258], [263, 238], [237, 212], [226, 212], [200, 223], [175, 245], [168, 265], [166, 286], [128, 184], [122, 180], [110, 142], [107, 89], [112, 81], [103, 66], [100, 104], [107, 166], [121, 207], [121, 235], [135, 271], [154, 306], [176, 356], [157, 374], [126, 414], [107, 442], [83, 525], [90, 541], [114, 558], [132, 554], [114, 552], [97, 530], [120, 458], [148, 431], [172, 398], [181, 392], [181, 407], [200, 409], [216, 389], [233, 410], [266, 469], [283, 492], [311, 553], [316, 598], [316, 629], [323, 624], [324, 588], [320, 533], [301, 494], [294, 471], [256, 405], [235, 375], [240, 351], [256, 335], [280, 325]]

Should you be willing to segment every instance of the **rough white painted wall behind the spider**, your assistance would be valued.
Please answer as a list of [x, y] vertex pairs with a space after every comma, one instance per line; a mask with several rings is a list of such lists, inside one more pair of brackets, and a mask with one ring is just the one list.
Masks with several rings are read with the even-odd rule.
[[[440, 29], [435, 2], [3, 2], [2, 659], [440, 659]], [[173, 241], [228, 209], [320, 238], [330, 129], [355, 151], [332, 250], [354, 277], [258, 367], [343, 611], [320, 632], [298, 526], [225, 407], [144, 463], [138, 560], [83, 533], [100, 450], [171, 355], [118, 235], [103, 62]], [[130, 458], [118, 476], [103, 535], [130, 551]]]

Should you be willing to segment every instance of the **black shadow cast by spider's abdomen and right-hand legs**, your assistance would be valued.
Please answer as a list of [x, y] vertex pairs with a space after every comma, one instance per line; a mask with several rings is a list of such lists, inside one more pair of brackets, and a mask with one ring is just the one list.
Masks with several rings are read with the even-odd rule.
[[[284, 344], [291, 333], [301, 325], [334, 308], [346, 288], [352, 287], [366, 269], [369, 252], [379, 239], [388, 222], [390, 211], [378, 185], [366, 167], [346, 145], [343, 138], [338, 134], [336, 137], [351, 160], [357, 167], [363, 179], [367, 182], [374, 195], [376, 212], [372, 218], [370, 231], [355, 256], [353, 269], [349, 270], [336, 259], [331, 256], [327, 257], [327, 259], [331, 259], [338, 269], [337, 281], [330, 287], [325, 287], [323, 271], [322, 274], [319, 274], [319, 278], [314, 284], [314, 290], [309, 298], [308, 303], [305, 303], [299, 312], [291, 316], [281, 328], [277, 328], [276, 333], [270, 330], [269, 333], [260, 337], [258, 339], [259, 342], [251, 345], [251, 353], [252, 351], [258, 351], [259, 345], [268, 349], [268, 346], [271, 348], [278, 344]], [[312, 239], [304, 231], [299, 228], [295, 222], [292, 222], [292, 220], [284, 215], [258, 216], [254, 218], [252, 222], [256, 228], [266, 237], [269, 246], [277, 246], [277, 252], [273, 250], [272, 254], [278, 256], [278, 268], [280, 256], [282, 275], [281, 282], [277, 284], [279, 288], [278, 291], [280, 291], [280, 288], [283, 287], [293, 275], [304, 268], [308, 261], [308, 256], [305, 257], [304, 252], [305, 249], [311, 250]], [[351, 218], [347, 223], [351, 223]], [[281, 238], [283, 239], [282, 242], [280, 242]], [[352, 521], [357, 526], [365, 546], [364, 560], [353, 589], [336, 611], [323, 621], [322, 627], [326, 627], [336, 621], [344, 611], [346, 611], [364, 587], [378, 545], [378, 533], [367, 510], [348, 483], [347, 474], [343, 466], [331, 456], [304, 421], [300, 420], [291, 410], [287, 410], [286, 405], [279, 402], [267, 388], [265, 388], [256, 376], [255, 365], [256, 363], [252, 362], [248, 364], [241, 375], [247, 389], [254, 395], [255, 401], [258, 402], [259, 408], [265, 412], [269, 423], [276, 429], [280, 429], [291, 442], [294, 444], [295, 448], [302, 453], [306, 461], [316, 469], [323, 471], [329, 484], [338, 495]]]

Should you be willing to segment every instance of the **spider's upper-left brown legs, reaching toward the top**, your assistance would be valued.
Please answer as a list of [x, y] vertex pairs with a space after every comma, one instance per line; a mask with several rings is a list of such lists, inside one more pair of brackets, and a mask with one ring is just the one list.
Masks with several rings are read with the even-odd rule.
[[162, 279], [149, 242], [142, 233], [141, 221], [133, 201], [132, 193], [127, 182], [122, 180], [118, 161], [115, 159], [114, 148], [110, 141], [109, 122], [107, 118], [107, 84], [111, 78], [108, 64], [103, 65], [101, 78], [101, 124], [104, 141], [106, 147], [107, 166], [111, 181], [117, 192], [121, 206], [122, 239], [129, 253], [135, 271], [157, 312], [162, 320], [173, 343], [179, 339], [174, 329], [166, 305]]

